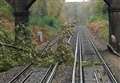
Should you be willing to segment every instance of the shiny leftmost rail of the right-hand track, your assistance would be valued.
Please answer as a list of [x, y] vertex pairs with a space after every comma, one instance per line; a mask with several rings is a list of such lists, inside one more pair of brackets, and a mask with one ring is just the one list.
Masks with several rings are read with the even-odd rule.
[[74, 66], [73, 66], [73, 73], [72, 73], [72, 83], [75, 83], [75, 76], [76, 76], [75, 71], [76, 71], [76, 66], [77, 66], [78, 35], [79, 35], [79, 32], [77, 33], [77, 40], [76, 40], [75, 58], [74, 58]]

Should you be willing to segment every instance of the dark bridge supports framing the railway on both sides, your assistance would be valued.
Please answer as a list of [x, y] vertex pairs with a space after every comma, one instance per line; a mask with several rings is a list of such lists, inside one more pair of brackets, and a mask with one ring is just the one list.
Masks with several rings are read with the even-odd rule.
[[[15, 25], [27, 26], [29, 8], [36, 0], [6, 0], [14, 9]], [[104, 0], [109, 14], [109, 47], [120, 52], [120, 0]], [[16, 32], [18, 33], [18, 32]]]

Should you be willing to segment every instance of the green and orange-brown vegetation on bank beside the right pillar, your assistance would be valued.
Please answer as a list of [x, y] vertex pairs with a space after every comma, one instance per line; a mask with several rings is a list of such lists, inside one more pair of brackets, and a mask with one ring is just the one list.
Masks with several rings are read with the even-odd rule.
[[107, 6], [103, 0], [95, 0], [89, 6], [92, 15], [89, 17], [88, 27], [95, 35], [108, 41], [108, 13]]

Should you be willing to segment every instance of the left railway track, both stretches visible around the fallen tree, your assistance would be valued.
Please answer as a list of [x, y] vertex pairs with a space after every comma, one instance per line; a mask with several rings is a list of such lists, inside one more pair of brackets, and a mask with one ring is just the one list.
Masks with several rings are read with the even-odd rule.
[[[55, 40], [50, 40], [41, 50], [41, 56], [43, 56], [43, 53], [47, 53], [47, 50], [52, 48], [57, 41], [58, 38]], [[30, 63], [25, 66], [24, 69], [21, 70], [17, 75], [15, 75], [8, 83], [51, 83], [57, 68], [58, 63], [55, 63], [55, 65], [50, 65], [50, 67], [45, 69], [45, 71], [35, 71], [33, 69], [33, 64]], [[35, 74], [37, 77], [35, 77]]]

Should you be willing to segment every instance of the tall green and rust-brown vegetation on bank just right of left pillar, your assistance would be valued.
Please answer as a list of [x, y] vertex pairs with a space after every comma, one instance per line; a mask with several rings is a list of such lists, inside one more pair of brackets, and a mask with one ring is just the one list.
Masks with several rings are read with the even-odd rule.
[[[31, 7], [30, 27], [34, 38], [37, 32], [43, 32], [44, 41], [61, 30], [64, 23], [62, 10], [64, 0], [37, 0]], [[36, 42], [36, 41], [34, 41]], [[39, 44], [39, 42], [36, 42]]]

